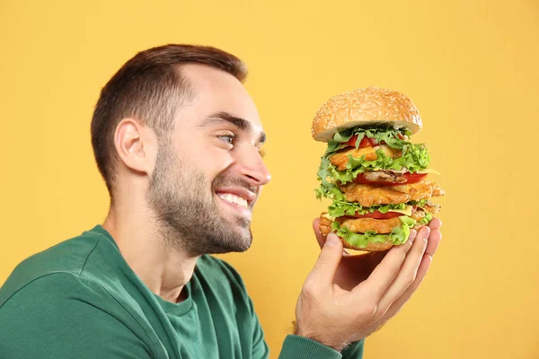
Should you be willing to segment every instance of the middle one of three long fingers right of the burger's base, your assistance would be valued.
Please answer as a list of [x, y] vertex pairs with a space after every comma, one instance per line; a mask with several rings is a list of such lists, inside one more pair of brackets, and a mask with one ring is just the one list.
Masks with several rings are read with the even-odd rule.
[[417, 238], [413, 243], [413, 246], [410, 250], [408, 256], [402, 264], [402, 268], [399, 272], [399, 276], [394, 280], [393, 284], [388, 288], [387, 292], [384, 293], [382, 300], [378, 308], [380, 311], [387, 311], [393, 302], [399, 299], [402, 296], [402, 293], [415, 282], [418, 276], [418, 270], [420, 268], [421, 260], [427, 250], [427, 244], [429, 243], [429, 227], [423, 227], [418, 232]]

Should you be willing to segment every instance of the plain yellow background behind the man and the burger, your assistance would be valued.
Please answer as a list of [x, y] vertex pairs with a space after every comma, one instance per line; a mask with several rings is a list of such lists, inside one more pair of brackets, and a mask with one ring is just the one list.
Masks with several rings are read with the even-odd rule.
[[366, 357], [539, 357], [538, 35], [535, 0], [2, 0], [0, 283], [23, 258], [102, 223], [108, 197], [89, 136], [102, 85], [139, 50], [209, 44], [247, 62], [269, 135], [273, 181], [255, 241], [225, 258], [243, 274], [272, 357], [318, 253], [325, 146], [311, 119], [331, 95], [368, 85], [418, 105], [415, 141], [429, 144], [447, 196], [425, 283], [368, 339]]

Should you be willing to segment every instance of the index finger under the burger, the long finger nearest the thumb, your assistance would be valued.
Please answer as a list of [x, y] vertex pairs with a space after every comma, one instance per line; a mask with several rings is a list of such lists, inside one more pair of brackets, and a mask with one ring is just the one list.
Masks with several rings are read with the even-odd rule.
[[[393, 283], [393, 280], [399, 275], [402, 263], [411, 249], [412, 243], [415, 240], [416, 232], [411, 231], [408, 241], [400, 246], [394, 246], [385, 255], [380, 264], [368, 276], [365, 282], [358, 285], [354, 291], [368, 291], [373, 296], [373, 300], [378, 303], [384, 296], [387, 288]], [[368, 288], [368, 289], [367, 289]]]

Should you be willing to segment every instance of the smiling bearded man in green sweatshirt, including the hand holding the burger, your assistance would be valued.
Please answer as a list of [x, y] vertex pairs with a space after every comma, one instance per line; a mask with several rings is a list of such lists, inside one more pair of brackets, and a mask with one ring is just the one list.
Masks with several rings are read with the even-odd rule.
[[[224, 51], [169, 45], [110, 79], [92, 121], [110, 213], [14, 269], [0, 290], [0, 357], [268, 357], [241, 277], [208, 256], [250, 247], [270, 181], [245, 76]], [[341, 258], [315, 221], [322, 252], [280, 357], [360, 358], [362, 339], [420, 285], [440, 225], [384, 257]]]

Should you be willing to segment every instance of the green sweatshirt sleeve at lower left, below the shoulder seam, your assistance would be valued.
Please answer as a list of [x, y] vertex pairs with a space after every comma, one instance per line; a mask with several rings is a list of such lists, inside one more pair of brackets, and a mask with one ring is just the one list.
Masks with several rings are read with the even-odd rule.
[[0, 357], [151, 358], [144, 333], [107, 295], [69, 273], [33, 280], [0, 302]]

